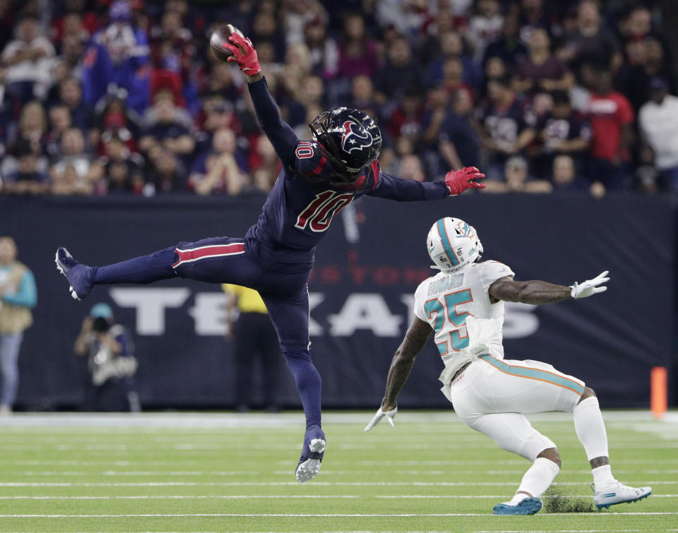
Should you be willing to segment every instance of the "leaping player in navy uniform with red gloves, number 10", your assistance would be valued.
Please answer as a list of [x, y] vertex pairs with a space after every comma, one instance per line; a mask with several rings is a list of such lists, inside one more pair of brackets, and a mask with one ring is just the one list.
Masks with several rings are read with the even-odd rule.
[[449, 172], [444, 181], [420, 183], [384, 174], [376, 158], [381, 133], [369, 115], [339, 107], [309, 125], [312, 140], [299, 140], [280, 117], [268, 92], [251, 41], [233, 33], [222, 44], [248, 81], [261, 128], [283, 163], [258, 221], [243, 238], [218, 237], [180, 242], [148, 256], [112, 265], [78, 263], [66, 248], [57, 250], [57, 267], [83, 299], [95, 285], [152, 283], [185, 277], [256, 289], [266, 303], [287, 366], [295, 377], [306, 414], [306, 434], [297, 464], [298, 481], [313, 479], [325, 450], [321, 429], [321, 378], [309, 355], [307, 282], [314, 250], [335, 215], [361, 196], [392, 200], [436, 200], [484, 187], [475, 167]]

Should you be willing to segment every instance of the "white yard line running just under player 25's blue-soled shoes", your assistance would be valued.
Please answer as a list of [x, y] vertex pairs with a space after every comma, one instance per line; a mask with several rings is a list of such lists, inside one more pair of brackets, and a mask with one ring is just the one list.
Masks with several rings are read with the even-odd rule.
[[[572, 513], [537, 513], [533, 515], [535, 517], [539, 516], [571, 516]], [[631, 511], [629, 513], [586, 513], [586, 516], [611, 516], [611, 515], [678, 515], [677, 512], [651, 512], [651, 513], [639, 513]], [[381, 517], [425, 517], [425, 516], [435, 516], [435, 517], [445, 517], [445, 516], [501, 516], [501, 515], [489, 515], [487, 513], [326, 513], [326, 514], [312, 514], [312, 513], [135, 513], [129, 515], [0, 515], [0, 518], [155, 518], [155, 517], [173, 517], [173, 518], [182, 518], [182, 517], [251, 517], [251, 518], [326, 518], [326, 517], [360, 517], [360, 518], [381, 518]], [[503, 519], [499, 519], [503, 520]], [[537, 519], [538, 520], [538, 519]]]

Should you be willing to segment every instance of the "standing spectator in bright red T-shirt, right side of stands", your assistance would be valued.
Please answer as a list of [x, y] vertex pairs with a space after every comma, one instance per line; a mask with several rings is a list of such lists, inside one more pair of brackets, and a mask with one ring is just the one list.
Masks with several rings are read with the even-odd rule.
[[634, 110], [621, 92], [612, 90], [609, 71], [595, 75], [589, 103], [593, 132], [590, 155], [592, 179], [608, 189], [626, 186], [629, 145], [634, 138]]

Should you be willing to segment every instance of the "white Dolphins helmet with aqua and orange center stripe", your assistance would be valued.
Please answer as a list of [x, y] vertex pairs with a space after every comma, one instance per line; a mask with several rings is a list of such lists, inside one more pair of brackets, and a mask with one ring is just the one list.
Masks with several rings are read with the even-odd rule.
[[445, 217], [432, 225], [426, 239], [431, 268], [454, 272], [482, 256], [482, 244], [475, 228], [463, 220]]

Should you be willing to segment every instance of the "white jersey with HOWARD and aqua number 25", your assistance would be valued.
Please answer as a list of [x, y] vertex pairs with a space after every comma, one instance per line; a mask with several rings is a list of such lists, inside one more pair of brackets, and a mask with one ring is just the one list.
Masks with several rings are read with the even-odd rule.
[[[475, 359], [466, 319], [491, 319], [485, 332], [487, 352], [504, 359], [501, 328], [504, 325], [504, 301], [489, 301], [489, 286], [501, 277], [513, 277], [513, 270], [497, 261], [471, 263], [454, 273], [441, 272], [424, 280], [415, 292], [415, 316], [436, 332], [435, 342], [443, 363], [444, 375], [451, 378], [466, 363]], [[441, 376], [441, 381], [442, 381]]]

